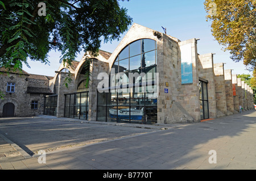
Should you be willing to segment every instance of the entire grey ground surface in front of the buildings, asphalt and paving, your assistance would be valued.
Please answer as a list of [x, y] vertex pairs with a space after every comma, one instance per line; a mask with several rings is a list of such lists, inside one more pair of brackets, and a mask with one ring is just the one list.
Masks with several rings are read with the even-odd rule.
[[1, 169], [254, 170], [256, 111], [162, 125], [1, 118]]

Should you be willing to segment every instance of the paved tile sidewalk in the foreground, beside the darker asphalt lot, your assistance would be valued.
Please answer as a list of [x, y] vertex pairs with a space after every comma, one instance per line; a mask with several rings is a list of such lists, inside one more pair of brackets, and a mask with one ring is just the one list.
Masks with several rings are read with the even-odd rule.
[[[48, 118], [54, 119], [54, 117]], [[81, 120], [65, 121], [76, 123], [75, 121]], [[104, 123], [94, 125], [99, 126], [97, 129], [100, 129]], [[109, 125], [107, 131], [111, 131], [114, 125], [117, 123]], [[121, 125], [115, 128], [121, 129]], [[130, 132], [138, 129], [136, 125], [130, 127], [134, 127], [129, 128]], [[1, 136], [0, 154], [8, 152], [18, 155], [1, 157], [0, 166], [4, 170], [256, 169], [256, 111], [254, 110], [201, 123], [148, 125], [147, 128], [150, 129], [139, 128], [143, 132], [149, 130], [146, 133], [129, 134], [113, 140], [49, 151], [46, 153], [46, 163], [42, 164], [38, 162], [41, 155], [35, 154], [33, 157], [24, 158], [22, 154], [15, 152], [10, 142], [4, 142], [7, 141], [5, 136]], [[101, 132], [101, 134], [105, 133]], [[8, 151], [3, 151], [5, 149]], [[210, 150], [215, 150], [217, 153], [216, 163], [209, 163]]]

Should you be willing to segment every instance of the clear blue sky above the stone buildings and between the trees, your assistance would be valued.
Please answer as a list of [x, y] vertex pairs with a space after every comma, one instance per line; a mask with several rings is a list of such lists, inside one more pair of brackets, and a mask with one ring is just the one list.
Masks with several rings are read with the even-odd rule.
[[[224, 52], [222, 46], [214, 40], [210, 24], [205, 16], [204, 0], [130, 0], [119, 1], [121, 7], [127, 9], [127, 14], [133, 18], [133, 23], [141, 24], [144, 27], [163, 32], [167, 29], [167, 35], [176, 37], [184, 41], [192, 38], [200, 39], [197, 41], [197, 52], [199, 54], [215, 53], [213, 61], [215, 63], [225, 63], [224, 69], [232, 69], [232, 74], [251, 74], [247, 71], [243, 62], [234, 62], [230, 59], [229, 52]], [[133, 25], [131, 23], [130, 27]], [[126, 35], [123, 33], [119, 41], [111, 43], [102, 41], [100, 49], [107, 52], [114, 52], [119, 42]], [[76, 61], [80, 61], [84, 52], [77, 55]], [[60, 52], [49, 52], [50, 65], [40, 62], [28, 61], [31, 68], [23, 65], [23, 70], [31, 74], [54, 76], [55, 71], [60, 66]]]

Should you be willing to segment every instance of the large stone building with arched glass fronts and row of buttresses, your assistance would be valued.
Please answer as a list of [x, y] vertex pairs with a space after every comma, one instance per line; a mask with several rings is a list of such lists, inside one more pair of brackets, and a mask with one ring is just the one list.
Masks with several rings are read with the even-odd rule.
[[[43, 113], [89, 121], [169, 124], [230, 115], [239, 111], [239, 104], [253, 109], [250, 87], [224, 64], [214, 64], [213, 56], [197, 53], [197, 39], [180, 41], [133, 24], [113, 53], [100, 50], [97, 57], [86, 53], [81, 61], [61, 64], [53, 78], [42, 80]], [[72, 80], [68, 88], [67, 77]], [[30, 82], [23, 87], [31, 96], [36, 89], [28, 87], [39, 85]]]

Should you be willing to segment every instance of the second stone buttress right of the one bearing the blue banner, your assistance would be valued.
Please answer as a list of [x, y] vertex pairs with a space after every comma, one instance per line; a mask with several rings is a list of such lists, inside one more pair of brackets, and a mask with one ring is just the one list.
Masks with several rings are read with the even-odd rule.
[[224, 79], [224, 64], [213, 64], [214, 67], [214, 83], [216, 94], [217, 117], [225, 116], [226, 109], [226, 90]]

